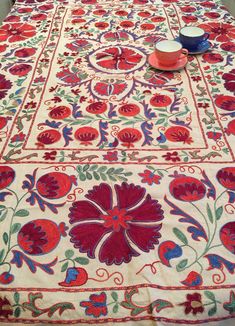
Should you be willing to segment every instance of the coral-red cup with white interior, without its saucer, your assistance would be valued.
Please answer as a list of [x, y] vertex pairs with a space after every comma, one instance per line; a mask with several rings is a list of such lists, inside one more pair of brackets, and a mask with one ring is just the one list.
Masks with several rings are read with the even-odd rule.
[[164, 40], [155, 44], [155, 54], [158, 62], [163, 66], [173, 66], [182, 57], [187, 57], [188, 50], [179, 42]]

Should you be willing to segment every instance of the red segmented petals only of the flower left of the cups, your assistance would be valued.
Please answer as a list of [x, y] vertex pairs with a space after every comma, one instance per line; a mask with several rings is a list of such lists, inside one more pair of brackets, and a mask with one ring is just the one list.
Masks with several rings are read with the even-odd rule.
[[134, 50], [125, 47], [113, 47], [96, 54], [97, 64], [106, 69], [133, 69], [142, 59]]

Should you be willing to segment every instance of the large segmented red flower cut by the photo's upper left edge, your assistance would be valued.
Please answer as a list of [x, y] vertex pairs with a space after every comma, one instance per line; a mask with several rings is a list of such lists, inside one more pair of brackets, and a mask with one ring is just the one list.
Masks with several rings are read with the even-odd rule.
[[24, 41], [36, 34], [36, 28], [29, 24], [5, 24], [0, 28], [0, 42]]

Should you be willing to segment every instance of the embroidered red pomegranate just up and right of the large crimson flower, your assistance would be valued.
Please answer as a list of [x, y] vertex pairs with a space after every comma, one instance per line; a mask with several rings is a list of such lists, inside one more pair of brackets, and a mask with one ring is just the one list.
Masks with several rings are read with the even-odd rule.
[[193, 177], [177, 177], [171, 181], [169, 187], [175, 199], [186, 202], [201, 200], [206, 194], [204, 184]]

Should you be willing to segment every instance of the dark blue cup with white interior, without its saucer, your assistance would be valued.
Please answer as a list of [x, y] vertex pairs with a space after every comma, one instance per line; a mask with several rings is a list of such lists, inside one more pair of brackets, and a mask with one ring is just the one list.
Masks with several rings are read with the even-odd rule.
[[196, 26], [185, 26], [180, 30], [179, 40], [184, 48], [189, 51], [198, 49], [210, 34]]

